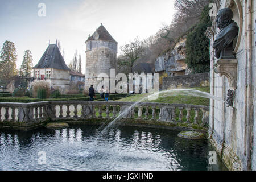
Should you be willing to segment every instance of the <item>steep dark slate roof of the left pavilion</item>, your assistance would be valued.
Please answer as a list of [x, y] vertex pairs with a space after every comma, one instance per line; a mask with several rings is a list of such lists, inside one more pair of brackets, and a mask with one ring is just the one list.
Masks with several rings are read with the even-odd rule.
[[49, 44], [38, 64], [33, 69], [55, 68], [69, 70], [57, 44]]

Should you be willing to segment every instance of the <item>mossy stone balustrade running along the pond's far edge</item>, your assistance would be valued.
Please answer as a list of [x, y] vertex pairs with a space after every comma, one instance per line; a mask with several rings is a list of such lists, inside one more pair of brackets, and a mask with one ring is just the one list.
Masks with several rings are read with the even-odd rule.
[[[2, 113], [1, 113], [2, 111]], [[192, 114], [193, 113], [193, 114]], [[209, 122], [209, 106], [154, 102], [46, 101], [0, 102], [0, 122], [85, 121], [88, 119], [131, 118], [161, 122]], [[194, 115], [195, 117], [191, 117]]]

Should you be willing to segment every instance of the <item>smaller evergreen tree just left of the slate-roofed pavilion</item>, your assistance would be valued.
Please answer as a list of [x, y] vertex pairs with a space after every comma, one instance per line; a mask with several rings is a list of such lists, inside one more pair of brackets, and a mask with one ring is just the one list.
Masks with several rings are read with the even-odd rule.
[[25, 55], [23, 56], [23, 62], [20, 67], [19, 75], [22, 77], [30, 77], [32, 74], [32, 55], [31, 51], [25, 51]]

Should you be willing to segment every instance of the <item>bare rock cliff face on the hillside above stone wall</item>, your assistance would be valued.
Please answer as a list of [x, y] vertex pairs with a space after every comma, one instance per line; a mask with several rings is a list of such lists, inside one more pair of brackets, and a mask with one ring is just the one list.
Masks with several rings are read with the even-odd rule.
[[186, 40], [187, 36], [180, 38], [179, 42], [177, 42], [174, 47], [156, 58], [156, 73], [167, 72], [168, 76], [180, 76], [189, 73], [187, 64], [185, 64]]

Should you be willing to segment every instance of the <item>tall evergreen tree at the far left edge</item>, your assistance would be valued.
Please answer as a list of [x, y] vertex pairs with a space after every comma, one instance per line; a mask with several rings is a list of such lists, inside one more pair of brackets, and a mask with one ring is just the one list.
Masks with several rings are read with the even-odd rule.
[[13, 80], [13, 77], [18, 75], [16, 48], [13, 42], [6, 40], [3, 43], [0, 58], [0, 84], [6, 87]]

